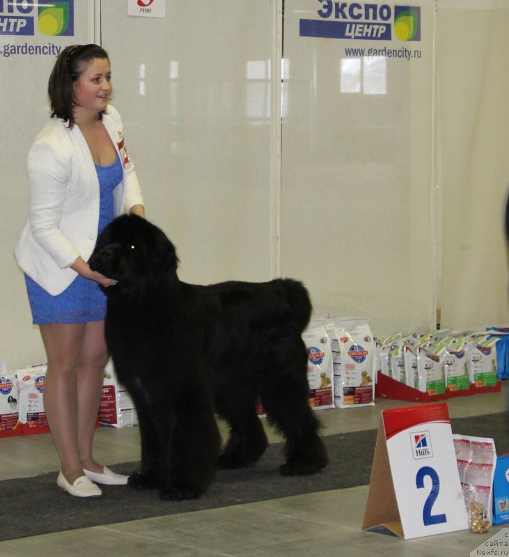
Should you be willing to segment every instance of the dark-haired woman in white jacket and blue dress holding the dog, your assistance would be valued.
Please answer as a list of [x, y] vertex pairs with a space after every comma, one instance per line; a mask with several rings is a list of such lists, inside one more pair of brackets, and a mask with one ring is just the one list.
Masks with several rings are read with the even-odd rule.
[[93, 458], [108, 361], [100, 286], [115, 288], [115, 281], [93, 272], [87, 260], [114, 217], [145, 214], [120, 116], [108, 104], [107, 52], [97, 45], [65, 48], [48, 93], [52, 114], [29, 152], [29, 217], [16, 257], [47, 355], [44, 405], [61, 460], [57, 485], [91, 497], [101, 494], [95, 483], [125, 484], [127, 477]]

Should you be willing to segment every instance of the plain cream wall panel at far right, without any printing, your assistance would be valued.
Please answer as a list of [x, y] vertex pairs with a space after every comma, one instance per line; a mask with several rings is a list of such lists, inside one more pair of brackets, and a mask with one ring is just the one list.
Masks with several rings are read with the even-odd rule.
[[507, 324], [509, 1], [441, 0], [437, 25], [444, 327]]

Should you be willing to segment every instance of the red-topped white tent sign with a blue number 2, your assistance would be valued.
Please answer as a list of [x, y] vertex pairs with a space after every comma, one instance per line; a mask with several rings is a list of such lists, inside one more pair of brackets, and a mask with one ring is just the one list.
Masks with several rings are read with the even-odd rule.
[[445, 403], [382, 411], [362, 528], [405, 540], [468, 528]]

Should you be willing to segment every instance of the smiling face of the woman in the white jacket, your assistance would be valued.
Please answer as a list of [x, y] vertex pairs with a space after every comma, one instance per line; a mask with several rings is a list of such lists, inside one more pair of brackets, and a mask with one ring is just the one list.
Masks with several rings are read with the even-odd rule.
[[111, 68], [108, 58], [83, 62], [84, 71], [73, 84], [75, 102], [81, 110], [95, 114], [106, 110], [111, 95]]

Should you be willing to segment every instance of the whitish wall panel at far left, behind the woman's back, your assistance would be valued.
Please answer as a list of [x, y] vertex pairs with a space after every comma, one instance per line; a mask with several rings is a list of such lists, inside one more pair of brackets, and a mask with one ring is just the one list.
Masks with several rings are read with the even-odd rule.
[[[95, 22], [93, 0], [70, 1], [73, 9], [63, 17], [69, 27], [54, 35], [58, 27], [40, 24], [42, 8], [50, 2], [30, 4], [0, 2], [2, 21], [8, 22], [1, 29], [13, 31], [0, 33], [0, 361], [10, 370], [45, 357], [39, 331], [31, 324], [23, 274], [13, 256], [29, 207], [26, 156], [49, 118], [47, 83], [56, 54], [68, 45], [93, 42]], [[24, 22], [19, 32], [11, 19]]]

